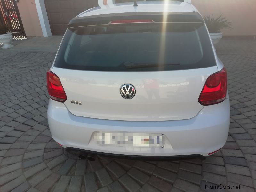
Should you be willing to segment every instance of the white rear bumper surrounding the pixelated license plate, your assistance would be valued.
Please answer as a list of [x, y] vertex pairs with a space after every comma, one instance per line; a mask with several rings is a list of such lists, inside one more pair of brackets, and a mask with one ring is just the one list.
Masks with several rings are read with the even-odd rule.
[[[71, 114], [63, 103], [50, 99], [48, 123], [52, 138], [64, 148], [121, 156], [208, 156], [223, 147], [230, 122], [229, 100], [205, 106], [195, 117], [177, 121], [116, 121]], [[127, 131], [164, 134], [163, 148], [99, 146], [92, 139], [95, 131]], [[161, 156], [161, 157], [160, 157]]]

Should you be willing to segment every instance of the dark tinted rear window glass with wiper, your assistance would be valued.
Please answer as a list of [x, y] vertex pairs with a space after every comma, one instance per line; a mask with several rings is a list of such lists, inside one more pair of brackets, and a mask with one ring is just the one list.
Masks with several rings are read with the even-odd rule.
[[67, 29], [55, 67], [167, 71], [216, 65], [203, 23], [130, 23]]

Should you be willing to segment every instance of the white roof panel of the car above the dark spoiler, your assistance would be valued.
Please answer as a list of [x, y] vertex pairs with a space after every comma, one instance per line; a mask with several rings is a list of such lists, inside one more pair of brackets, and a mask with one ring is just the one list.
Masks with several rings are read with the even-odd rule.
[[93, 15], [107, 15], [117, 13], [132, 12], [179, 12], [192, 13], [197, 12], [196, 8], [190, 3], [180, 1], [140, 1], [138, 6], [133, 6], [134, 2], [117, 3], [94, 7], [79, 14], [77, 17], [86, 17]]

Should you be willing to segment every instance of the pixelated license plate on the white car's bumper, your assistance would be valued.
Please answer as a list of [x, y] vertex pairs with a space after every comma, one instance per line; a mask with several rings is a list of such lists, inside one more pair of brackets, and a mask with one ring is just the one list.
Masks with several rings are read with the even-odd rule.
[[163, 134], [98, 131], [94, 134], [94, 140], [100, 146], [150, 148], [162, 148], [164, 146]]

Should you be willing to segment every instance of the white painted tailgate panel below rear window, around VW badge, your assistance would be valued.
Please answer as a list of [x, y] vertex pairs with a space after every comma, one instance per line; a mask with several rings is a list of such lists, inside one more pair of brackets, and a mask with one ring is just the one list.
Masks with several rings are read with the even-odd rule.
[[[68, 98], [64, 104], [72, 114], [125, 121], [181, 120], [196, 116], [203, 108], [198, 98], [204, 83], [217, 71], [217, 66], [154, 72], [52, 69], [60, 78]], [[135, 87], [132, 99], [121, 96], [120, 88], [124, 84]]]

